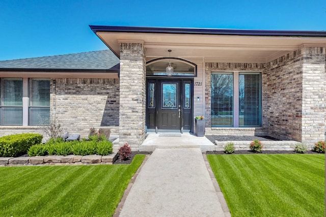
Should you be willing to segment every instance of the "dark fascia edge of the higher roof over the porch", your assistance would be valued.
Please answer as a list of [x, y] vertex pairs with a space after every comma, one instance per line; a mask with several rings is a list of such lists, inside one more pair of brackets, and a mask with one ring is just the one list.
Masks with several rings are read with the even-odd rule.
[[326, 31], [307, 30], [250, 30], [218, 28], [176, 28], [176, 27], [139, 27], [90, 25], [93, 32], [120, 33], [162, 33], [194, 35], [230, 35], [230, 36], [283, 36], [283, 37], [326, 37]]

